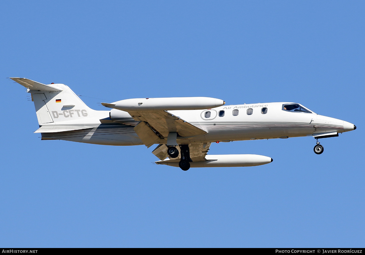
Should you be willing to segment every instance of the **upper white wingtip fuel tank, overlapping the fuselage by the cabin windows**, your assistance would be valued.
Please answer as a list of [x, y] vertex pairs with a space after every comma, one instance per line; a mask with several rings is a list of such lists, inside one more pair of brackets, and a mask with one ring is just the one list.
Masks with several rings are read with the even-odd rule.
[[211, 97], [164, 97], [133, 98], [102, 105], [122, 111], [169, 111], [169, 110], [203, 110], [224, 105], [221, 99]]

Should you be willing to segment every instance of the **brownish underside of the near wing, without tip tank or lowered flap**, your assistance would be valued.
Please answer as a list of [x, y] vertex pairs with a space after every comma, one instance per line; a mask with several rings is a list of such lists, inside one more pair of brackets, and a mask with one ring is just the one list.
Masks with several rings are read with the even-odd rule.
[[156, 132], [167, 138], [169, 133], [180, 136], [198, 136], [207, 132], [168, 111], [128, 111], [136, 121], [144, 121]]

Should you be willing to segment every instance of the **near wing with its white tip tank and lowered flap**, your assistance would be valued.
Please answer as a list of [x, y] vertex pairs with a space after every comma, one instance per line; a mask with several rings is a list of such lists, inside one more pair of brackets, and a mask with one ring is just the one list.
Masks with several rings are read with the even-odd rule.
[[[168, 139], [169, 134], [173, 137], [173, 133], [177, 137], [201, 136], [208, 133], [167, 110], [210, 109], [224, 104], [223, 100], [205, 97], [134, 98], [114, 103], [101, 103], [105, 107], [126, 111], [135, 121], [139, 121], [134, 131], [147, 147], [164, 143], [161, 140]], [[169, 139], [174, 140], [171, 137]]]

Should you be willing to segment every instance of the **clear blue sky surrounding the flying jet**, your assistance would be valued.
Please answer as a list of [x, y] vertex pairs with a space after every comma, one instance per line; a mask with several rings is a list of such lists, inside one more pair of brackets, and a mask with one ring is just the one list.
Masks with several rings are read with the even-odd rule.
[[[1, 1], [1, 247], [364, 247], [363, 1]], [[41, 141], [6, 77], [127, 98], [298, 102], [358, 128], [212, 144], [268, 165], [154, 165], [153, 147]]]

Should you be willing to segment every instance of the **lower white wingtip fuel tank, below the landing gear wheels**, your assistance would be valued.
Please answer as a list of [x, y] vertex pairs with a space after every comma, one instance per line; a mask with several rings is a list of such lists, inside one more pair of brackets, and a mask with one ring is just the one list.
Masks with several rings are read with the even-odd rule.
[[[190, 167], [259, 166], [271, 163], [272, 158], [255, 154], [206, 155], [206, 161], [189, 162]], [[179, 167], [180, 160], [161, 160], [156, 164]]]

